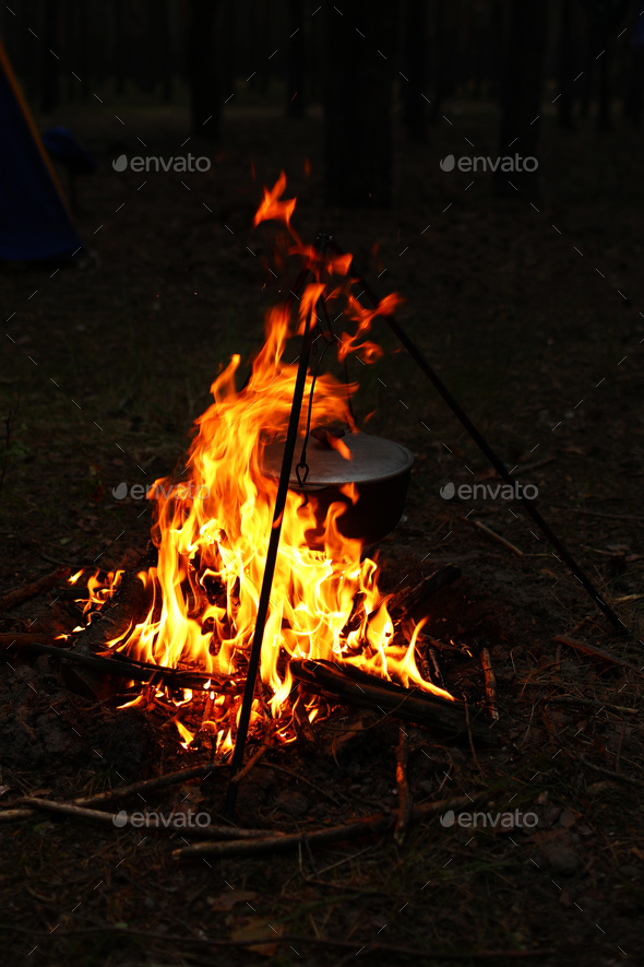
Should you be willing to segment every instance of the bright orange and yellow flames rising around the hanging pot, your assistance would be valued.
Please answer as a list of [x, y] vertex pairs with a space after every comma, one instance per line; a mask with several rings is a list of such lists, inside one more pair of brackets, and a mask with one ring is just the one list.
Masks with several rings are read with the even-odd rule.
[[[315, 314], [324, 296], [327, 303], [342, 302], [345, 319], [355, 323], [353, 334], [345, 331], [342, 341], [336, 339], [338, 358], [359, 352], [362, 362], [369, 363], [381, 355], [380, 347], [368, 339], [378, 312], [366, 310], [350, 291], [350, 256], [330, 256], [320, 266], [318, 253], [303, 246], [290, 226], [296, 200], [282, 200], [285, 187], [282, 175], [272, 190], [264, 190], [255, 225], [282, 221], [288, 233], [288, 253], [308, 261], [314, 282], [302, 294], [296, 320], [285, 306], [267, 314], [265, 341], [246, 385], [240, 386], [241, 358], [232, 356], [212, 385], [214, 402], [196, 421], [181, 481], [157, 481], [153, 487], [150, 496], [156, 502], [153, 540], [158, 547], [158, 566], [143, 575], [151, 588], [150, 610], [123, 638], [109, 642], [140, 661], [198, 669], [212, 675], [213, 683], [243, 679], [248, 663], [277, 493], [277, 480], [266, 473], [263, 453], [267, 445], [286, 437], [297, 372], [297, 361], [285, 362], [289, 339], [303, 332], [307, 314]], [[396, 296], [387, 296], [380, 308], [391, 311], [395, 304]], [[302, 436], [312, 380], [309, 373], [300, 418]], [[334, 376], [320, 374], [311, 426], [343, 423], [355, 431], [347, 397], [356, 388], [347, 390]], [[342, 440], [336, 440], [336, 446], [346, 459], [346, 446]], [[353, 485], [346, 494], [355, 499]], [[261, 694], [255, 697], [251, 718], [251, 727], [266, 717], [275, 720], [283, 741], [288, 738], [293, 711], [291, 659], [351, 664], [451, 698], [417, 669], [415, 646], [420, 625], [410, 642], [394, 640], [386, 598], [378, 588], [375, 562], [361, 559], [361, 542], [343, 536], [338, 530], [345, 510], [345, 504], [333, 504], [323, 539], [313, 542], [310, 532], [318, 528], [319, 534], [319, 523], [310, 502], [297, 492], [288, 494], [261, 656]], [[97, 591], [94, 582], [88, 606], [100, 606], [114, 592], [118, 577], [110, 576], [107, 591]], [[183, 700], [190, 697], [183, 694]], [[208, 694], [204, 719], [212, 723], [218, 748], [231, 747], [239, 701], [229, 695]], [[317, 699], [307, 701], [311, 721], [318, 711]], [[178, 721], [177, 726], [188, 744], [190, 731]]]

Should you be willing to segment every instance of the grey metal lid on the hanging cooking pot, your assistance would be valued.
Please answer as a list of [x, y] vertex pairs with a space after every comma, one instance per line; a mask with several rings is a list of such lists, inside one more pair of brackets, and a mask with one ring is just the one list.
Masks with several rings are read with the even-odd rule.
[[[314, 436], [307, 444], [307, 463], [309, 475], [306, 487], [343, 486], [346, 483], [375, 483], [409, 470], [414, 463], [414, 455], [402, 444], [370, 436], [366, 433], [347, 433], [339, 439], [339, 449], [322, 443]], [[290, 471], [290, 484], [299, 488], [296, 464], [300, 459], [302, 438], [298, 443]], [[346, 448], [346, 449], [345, 449]], [[350, 459], [342, 451], [348, 450]], [[262, 465], [264, 473], [279, 476], [284, 440], [269, 444], [264, 449]]]

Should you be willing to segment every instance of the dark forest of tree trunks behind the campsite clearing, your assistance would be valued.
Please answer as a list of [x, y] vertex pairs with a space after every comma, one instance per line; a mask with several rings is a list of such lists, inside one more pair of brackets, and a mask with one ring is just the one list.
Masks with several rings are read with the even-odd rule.
[[[642, 121], [641, 0], [22, 0], [0, 34], [29, 103], [176, 104], [226, 138], [226, 105], [322, 107], [326, 200], [389, 204], [392, 114], [431, 142], [454, 98], [499, 106], [498, 146], [539, 155], [540, 115], [574, 131]], [[350, 144], [351, 151], [347, 152]], [[538, 174], [520, 188], [537, 190]], [[511, 191], [498, 172], [497, 191]]]

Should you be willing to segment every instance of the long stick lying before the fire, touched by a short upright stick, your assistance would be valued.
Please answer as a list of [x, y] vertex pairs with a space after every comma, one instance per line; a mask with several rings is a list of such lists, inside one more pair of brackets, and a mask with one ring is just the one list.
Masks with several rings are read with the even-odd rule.
[[[479, 793], [480, 799], [488, 795], [489, 792]], [[445, 813], [448, 810], [462, 809], [470, 806], [476, 799], [468, 795], [461, 795], [456, 799], [445, 799], [438, 802], [428, 802], [422, 805], [414, 806], [412, 810], [413, 819], [422, 819], [426, 816], [436, 815], [437, 813]], [[353, 819], [349, 823], [343, 823], [341, 826], [330, 826], [327, 829], [315, 829], [312, 833], [287, 833], [282, 836], [267, 836], [264, 839], [237, 840], [230, 842], [198, 842], [194, 846], [177, 849], [172, 852], [172, 857], [177, 860], [201, 859], [202, 857], [236, 857], [236, 856], [257, 856], [258, 853], [273, 852], [276, 849], [289, 849], [300, 844], [313, 846], [315, 844], [337, 842], [342, 839], [354, 839], [356, 836], [375, 835], [386, 833], [392, 826], [395, 826], [398, 814], [396, 811], [384, 813], [375, 816], [365, 816], [360, 819]]]

